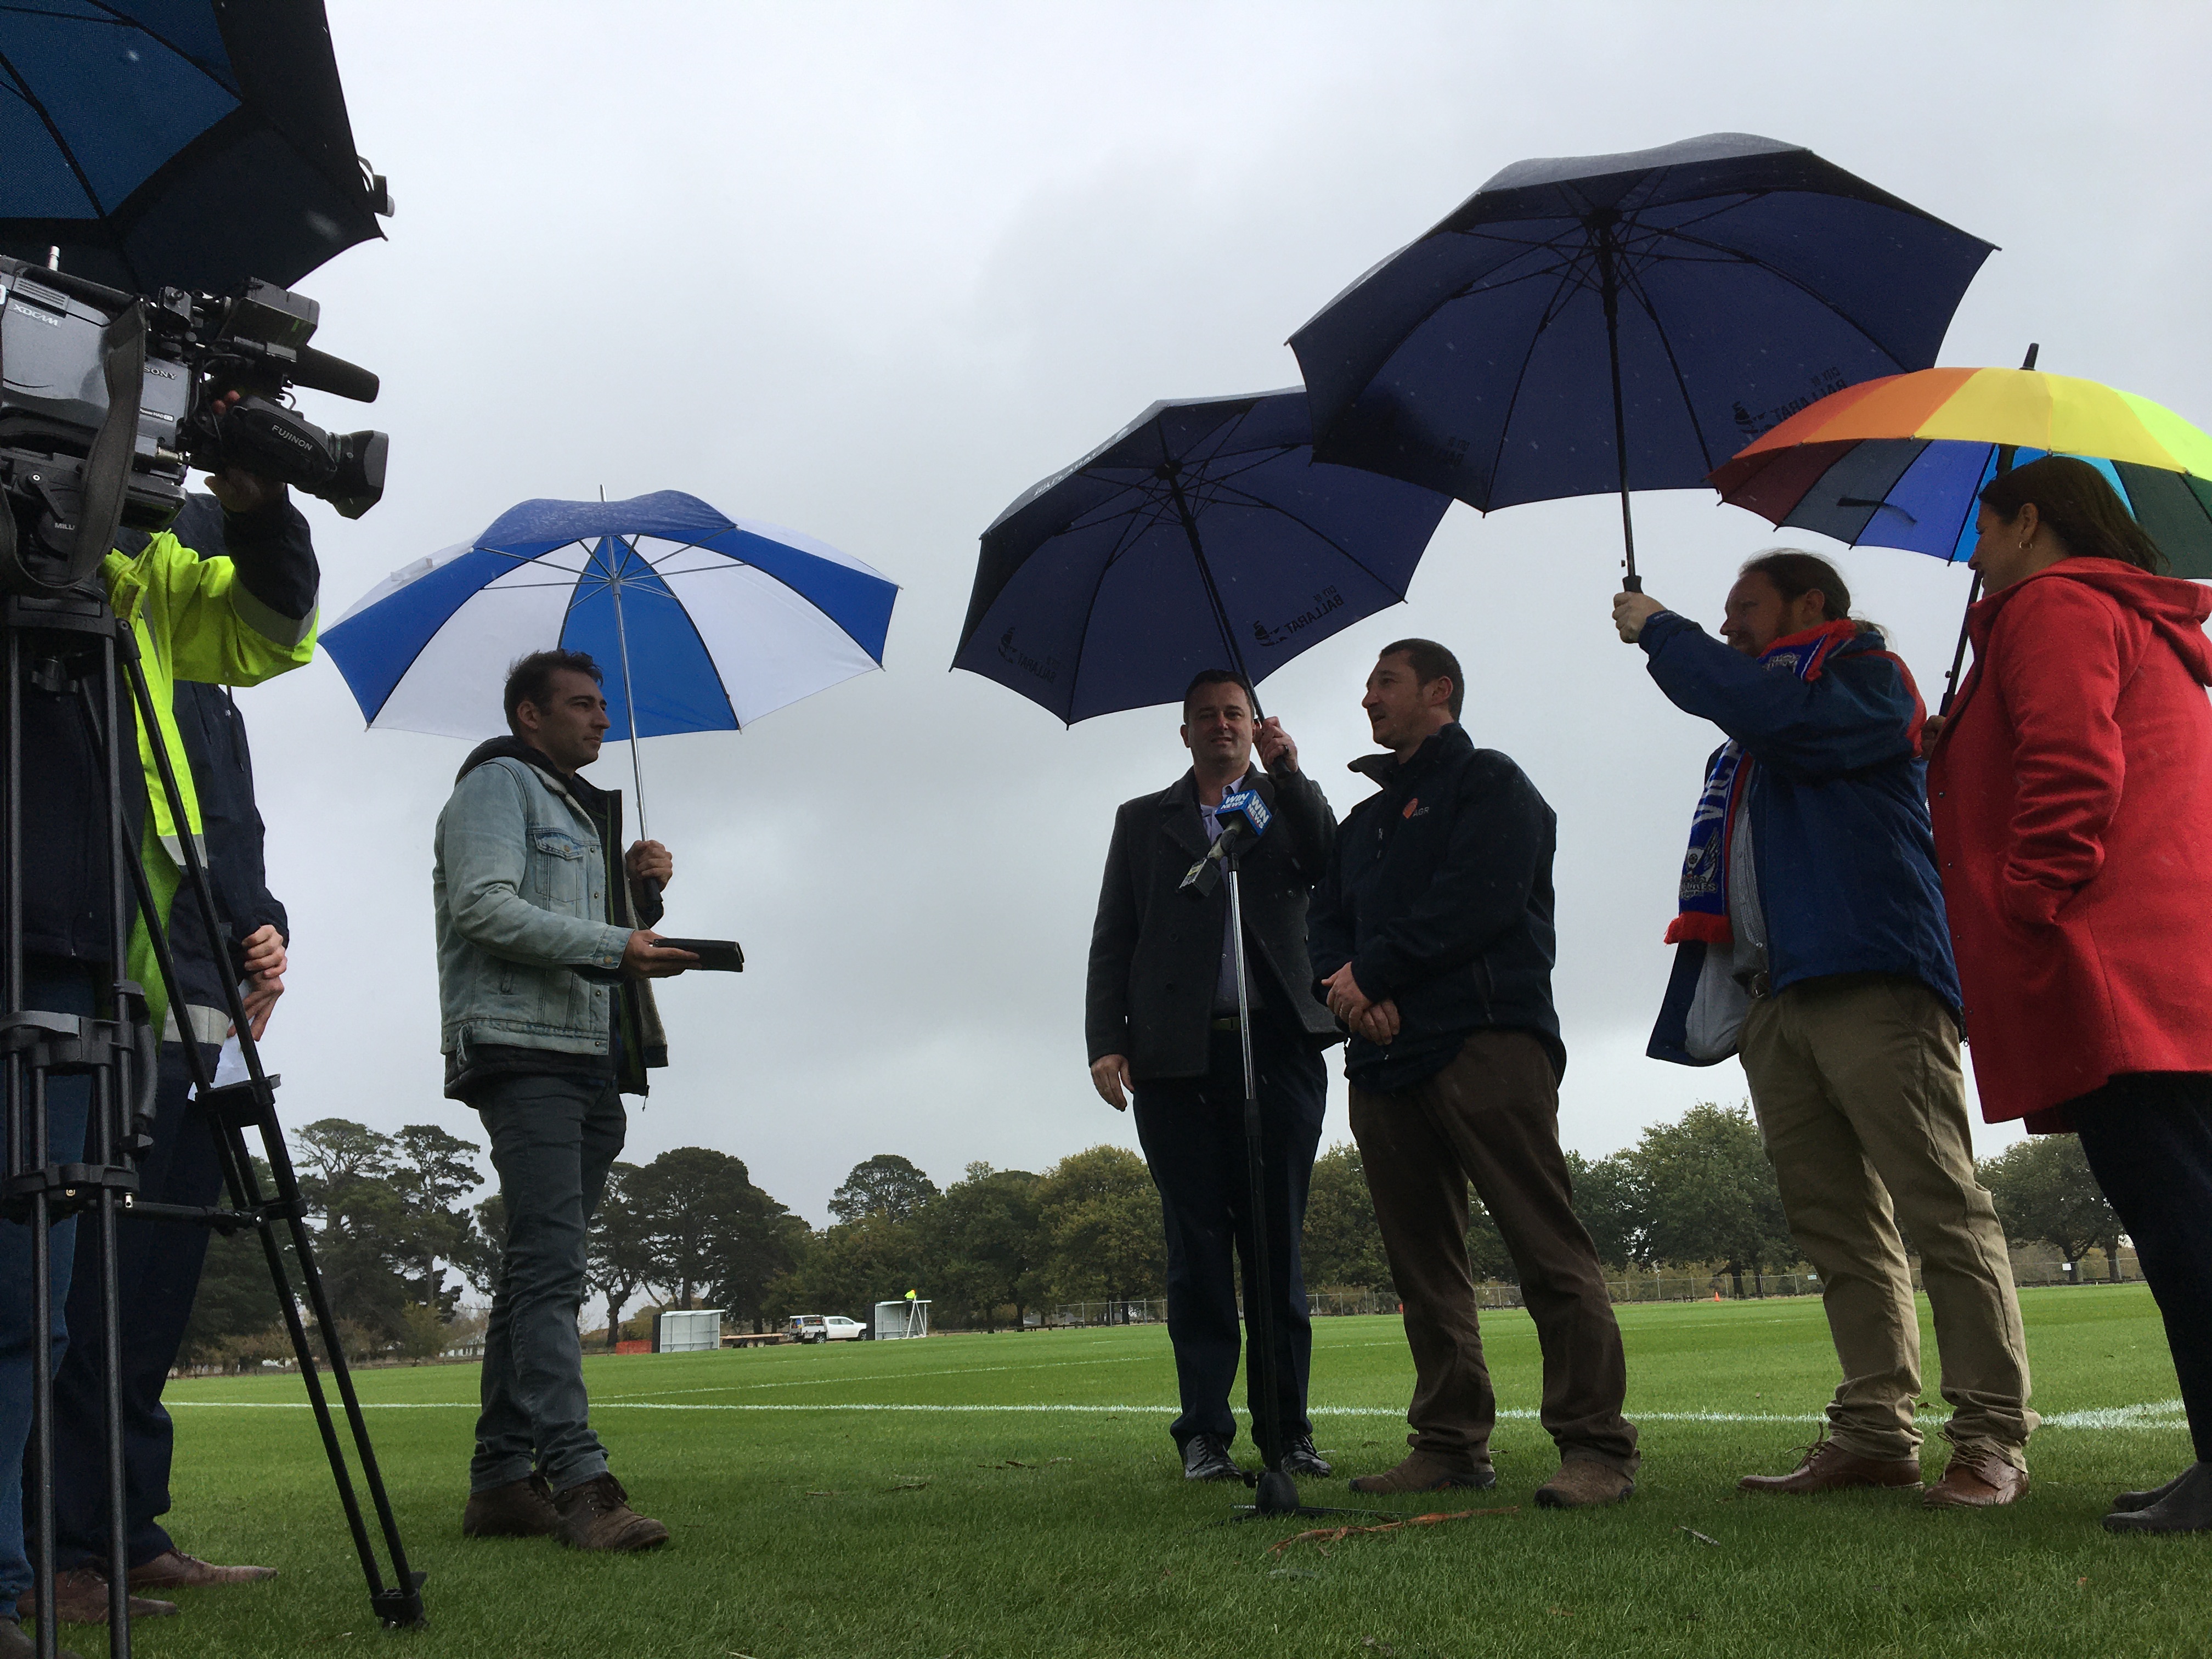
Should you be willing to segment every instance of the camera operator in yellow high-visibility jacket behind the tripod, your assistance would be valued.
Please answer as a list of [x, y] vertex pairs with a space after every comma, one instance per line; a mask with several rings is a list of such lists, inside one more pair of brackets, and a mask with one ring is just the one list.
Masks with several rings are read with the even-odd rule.
[[[226, 553], [197, 555], [175, 531], [146, 538], [135, 553], [113, 551], [100, 566], [100, 588], [137, 641], [155, 730], [144, 730], [128, 692], [117, 688], [124, 719], [137, 732], [139, 765], [124, 774], [124, 832], [139, 845], [155, 896], [168, 905], [179, 880], [181, 836], [199, 836], [190, 761], [177, 734], [173, 688], [179, 679], [254, 686], [314, 655], [316, 568], [303, 526], [272, 484], [228, 473], [212, 484], [237, 511], [223, 518]], [[106, 911], [106, 774], [93, 750], [75, 688], [27, 681], [22, 697], [24, 776], [38, 779], [35, 812], [22, 814], [22, 1004], [55, 1013], [111, 1015], [108, 987], [113, 918]], [[155, 743], [168, 757], [184, 792], [184, 823], [170, 814], [155, 765]], [[24, 803], [31, 805], [29, 801]], [[175, 852], [170, 852], [175, 847]], [[146, 922], [131, 931], [122, 973], [146, 987], [148, 1013], [159, 1026], [168, 1000], [153, 964]], [[46, 1086], [49, 1161], [84, 1157], [91, 1084], [55, 1077]], [[69, 1343], [66, 1305], [73, 1279], [75, 1221], [51, 1230], [53, 1358]], [[24, 1475], [31, 1429], [31, 1365], [38, 1332], [31, 1325], [31, 1228], [0, 1221], [0, 1491]], [[24, 1509], [0, 1502], [0, 1659], [29, 1655], [31, 1641], [13, 1621], [31, 1586], [24, 1551]], [[91, 1584], [100, 1586], [97, 1573]], [[58, 1590], [60, 1599], [60, 1590]], [[100, 1590], [100, 1619], [106, 1595]], [[69, 1617], [71, 1608], [58, 1608]], [[170, 1610], [133, 1597], [135, 1613]]]

